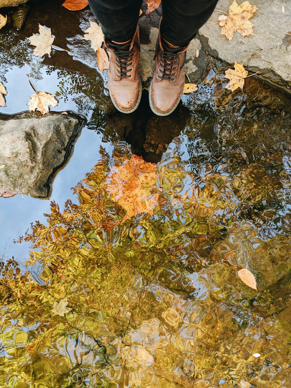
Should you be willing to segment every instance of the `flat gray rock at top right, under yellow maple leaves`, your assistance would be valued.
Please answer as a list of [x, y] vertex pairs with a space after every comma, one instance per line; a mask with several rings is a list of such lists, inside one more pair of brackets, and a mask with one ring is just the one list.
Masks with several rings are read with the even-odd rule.
[[[220, 0], [217, 9], [227, 12], [232, 2]], [[241, 3], [238, 1], [238, 3]], [[258, 9], [250, 19], [254, 24], [253, 35], [242, 36], [236, 32], [231, 42], [220, 35], [217, 22], [219, 12], [213, 12], [208, 22], [199, 30], [204, 50], [215, 59], [222, 60], [225, 69], [235, 61], [248, 70], [260, 71], [258, 77], [291, 91], [291, 43], [286, 31], [291, 29], [290, 7], [283, 0], [255, 0], [250, 2]], [[282, 5], [285, 13], [282, 13]]]

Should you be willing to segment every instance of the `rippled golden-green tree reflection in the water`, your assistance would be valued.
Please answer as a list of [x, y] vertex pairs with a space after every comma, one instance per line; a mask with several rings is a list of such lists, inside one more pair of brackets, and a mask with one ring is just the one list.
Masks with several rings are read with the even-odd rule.
[[[111, 123], [117, 122], [112, 116]], [[122, 125], [126, 130], [129, 121]], [[189, 137], [191, 125], [185, 129]], [[156, 128], [162, 128], [158, 120]], [[174, 127], [168, 135], [153, 130], [156, 143], [174, 133]], [[146, 129], [142, 135], [151, 136]], [[163, 156], [156, 153], [163, 159], [150, 181], [147, 171], [126, 175], [126, 142], [117, 142], [112, 156], [101, 149], [99, 162], [74, 189], [76, 204], [68, 201], [60, 212], [52, 203], [47, 223], [36, 223], [26, 236], [33, 244], [30, 261], [43, 266], [38, 282], [22, 275], [14, 260], [2, 264], [3, 386], [16, 381], [44, 387], [192, 388], [194, 383], [232, 386], [244, 379], [263, 387], [266, 365], [268, 387], [290, 380], [285, 369], [291, 324], [288, 236], [260, 239], [257, 218], [241, 219], [243, 206], [261, 201], [256, 169], [243, 189], [223, 166], [205, 170], [199, 185], [196, 159], [205, 166], [215, 161], [205, 143], [199, 148], [199, 138], [191, 139], [185, 156], [182, 136], [176, 133]], [[233, 141], [242, 147], [240, 139]], [[232, 149], [228, 142], [221, 151]], [[237, 173], [232, 163], [224, 166]], [[112, 194], [120, 189], [113, 182], [120, 167], [123, 179], [144, 185], [143, 195], [157, 194], [153, 215], [126, 220]], [[248, 168], [243, 165], [241, 175]], [[268, 191], [278, 192], [276, 182], [269, 178]], [[257, 277], [256, 293], [237, 277], [242, 260], [257, 262], [267, 277], [280, 268], [283, 278], [266, 286], [263, 275], [262, 281]], [[52, 314], [54, 301], [65, 297], [73, 310], [65, 317]], [[253, 353], [262, 357], [255, 360]]]

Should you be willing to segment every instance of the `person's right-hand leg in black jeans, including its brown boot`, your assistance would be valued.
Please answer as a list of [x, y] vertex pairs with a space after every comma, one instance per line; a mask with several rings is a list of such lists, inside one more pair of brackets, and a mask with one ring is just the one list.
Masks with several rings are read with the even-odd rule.
[[178, 106], [185, 83], [186, 50], [217, 1], [162, 0], [163, 17], [149, 89], [149, 104], [158, 116], [167, 116]]

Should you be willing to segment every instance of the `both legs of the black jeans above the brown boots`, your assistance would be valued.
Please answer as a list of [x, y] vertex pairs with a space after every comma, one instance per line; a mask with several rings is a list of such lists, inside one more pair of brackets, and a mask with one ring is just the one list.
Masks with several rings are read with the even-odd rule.
[[[187, 45], [209, 19], [218, 0], [162, 0], [161, 34], [175, 46]], [[106, 38], [127, 42], [137, 27], [142, 0], [89, 0]]]

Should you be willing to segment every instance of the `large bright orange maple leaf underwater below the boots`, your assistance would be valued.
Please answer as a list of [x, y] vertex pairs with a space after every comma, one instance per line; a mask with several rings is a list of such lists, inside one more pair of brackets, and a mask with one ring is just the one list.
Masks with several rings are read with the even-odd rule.
[[151, 192], [157, 183], [156, 165], [132, 155], [123, 165], [111, 168], [106, 191], [126, 210], [124, 220], [138, 214], [152, 214], [158, 204], [158, 193]]

